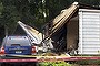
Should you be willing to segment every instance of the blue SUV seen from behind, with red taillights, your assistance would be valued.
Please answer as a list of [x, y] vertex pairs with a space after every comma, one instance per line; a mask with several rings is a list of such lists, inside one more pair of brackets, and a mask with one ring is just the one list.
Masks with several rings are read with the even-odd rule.
[[28, 36], [6, 36], [2, 42], [3, 54], [31, 55], [36, 53]]

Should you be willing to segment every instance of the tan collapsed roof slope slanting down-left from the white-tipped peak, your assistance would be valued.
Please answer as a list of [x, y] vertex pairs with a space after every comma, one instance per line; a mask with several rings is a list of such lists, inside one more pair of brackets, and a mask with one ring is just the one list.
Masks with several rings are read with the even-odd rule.
[[78, 2], [74, 2], [68, 9], [62, 10], [60, 14], [57, 15], [52, 21], [51, 33], [53, 34], [54, 32], [60, 30], [73, 16], [78, 9], [79, 4]]

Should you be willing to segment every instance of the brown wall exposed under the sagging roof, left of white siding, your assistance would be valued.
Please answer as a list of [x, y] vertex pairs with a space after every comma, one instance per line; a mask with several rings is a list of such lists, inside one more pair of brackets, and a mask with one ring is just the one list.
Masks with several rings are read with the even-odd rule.
[[71, 19], [67, 24], [67, 50], [78, 47], [79, 22], [78, 16]]

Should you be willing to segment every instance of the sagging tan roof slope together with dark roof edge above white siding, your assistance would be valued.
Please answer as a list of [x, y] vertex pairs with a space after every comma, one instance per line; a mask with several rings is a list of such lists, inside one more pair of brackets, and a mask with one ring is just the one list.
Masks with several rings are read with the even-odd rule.
[[100, 8], [88, 6], [83, 3], [73, 2], [68, 9], [64, 9], [60, 12], [59, 15], [57, 15], [51, 24], [51, 34], [59, 31], [74, 14], [79, 11], [79, 9], [97, 9]]

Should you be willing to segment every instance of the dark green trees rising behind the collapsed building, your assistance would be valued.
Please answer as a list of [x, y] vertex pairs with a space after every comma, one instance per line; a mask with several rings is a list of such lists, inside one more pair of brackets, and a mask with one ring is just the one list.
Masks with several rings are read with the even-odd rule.
[[19, 20], [41, 29], [74, 1], [100, 6], [99, 0], [0, 0], [0, 25], [7, 26], [10, 34]]

